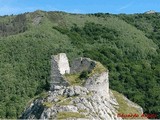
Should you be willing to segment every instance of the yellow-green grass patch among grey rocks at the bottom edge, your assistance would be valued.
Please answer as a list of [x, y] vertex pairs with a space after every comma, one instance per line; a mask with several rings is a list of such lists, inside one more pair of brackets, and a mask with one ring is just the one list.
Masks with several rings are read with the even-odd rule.
[[85, 115], [76, 112], [59, 112], [57, 114], [57, 119], [67, 118], [85, 118]]

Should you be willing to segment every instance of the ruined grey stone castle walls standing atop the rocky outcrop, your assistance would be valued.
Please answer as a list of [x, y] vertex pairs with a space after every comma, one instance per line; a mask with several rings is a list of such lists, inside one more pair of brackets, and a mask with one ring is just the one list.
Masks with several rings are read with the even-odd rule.
[[[69, 86], [69, 83], [63, 77], [64, 74], [80, 73], [82, 71], [92, 71], [97, 62], [90, 58], [76, 58], [71, 67], [69, 66], [68, 58], [65, 53], [53, 55], [51, 57], [51, 91], [57, 86]], [[91, 91], [96, 91], [102, 96], [109, 97], [109, 80], [108, 72], [94, 74], [89, 77], [84, 87]]]

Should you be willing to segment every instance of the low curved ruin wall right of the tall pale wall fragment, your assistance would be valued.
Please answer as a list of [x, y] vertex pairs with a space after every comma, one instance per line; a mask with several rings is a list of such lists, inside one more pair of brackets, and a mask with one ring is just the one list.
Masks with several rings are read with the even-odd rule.
[[[82, 71], [92, 71], [96, 66], [97, 62], [90, 58], [77, 58], [71, 65], [71, 73], [80, 73]], [[84, 87], [90, 91], [94, 91], [100, 96], [109, 99], [109, 77], [108, 71], [103, 73], [96, 73], [89, 77]]]

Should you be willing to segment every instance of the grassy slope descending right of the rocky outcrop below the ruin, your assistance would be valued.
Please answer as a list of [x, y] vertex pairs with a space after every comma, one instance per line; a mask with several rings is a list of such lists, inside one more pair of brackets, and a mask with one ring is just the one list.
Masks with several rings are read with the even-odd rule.
[[115, 98], [116, 98], [116, 100], [119, 104], [118, 113], [124, 113], [124, 114], [132, 113], [132, 114], [139, 114], [139, 115], [142, 114], [135, 107], [129, 106], [127, 104], [127, 101], [124, 100], [122, 94], [120, 94], [120, 93], [118, 93], [117, 91], [114, 91], [114, 90], [112, 90], [112, 93], [115, 96]]

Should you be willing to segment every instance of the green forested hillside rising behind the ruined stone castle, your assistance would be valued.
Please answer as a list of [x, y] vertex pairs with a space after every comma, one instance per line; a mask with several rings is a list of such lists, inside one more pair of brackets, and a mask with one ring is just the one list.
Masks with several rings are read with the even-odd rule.
[[17, 118], [30, 99], [48, 90], [51, 55], [60, 52], [70, 61], [78, 56], [100, 61], [110, 71], [110, 88], [146, 113], [159, 114], [159, 16], [44, 11], [1, 16], [0, 118]]

